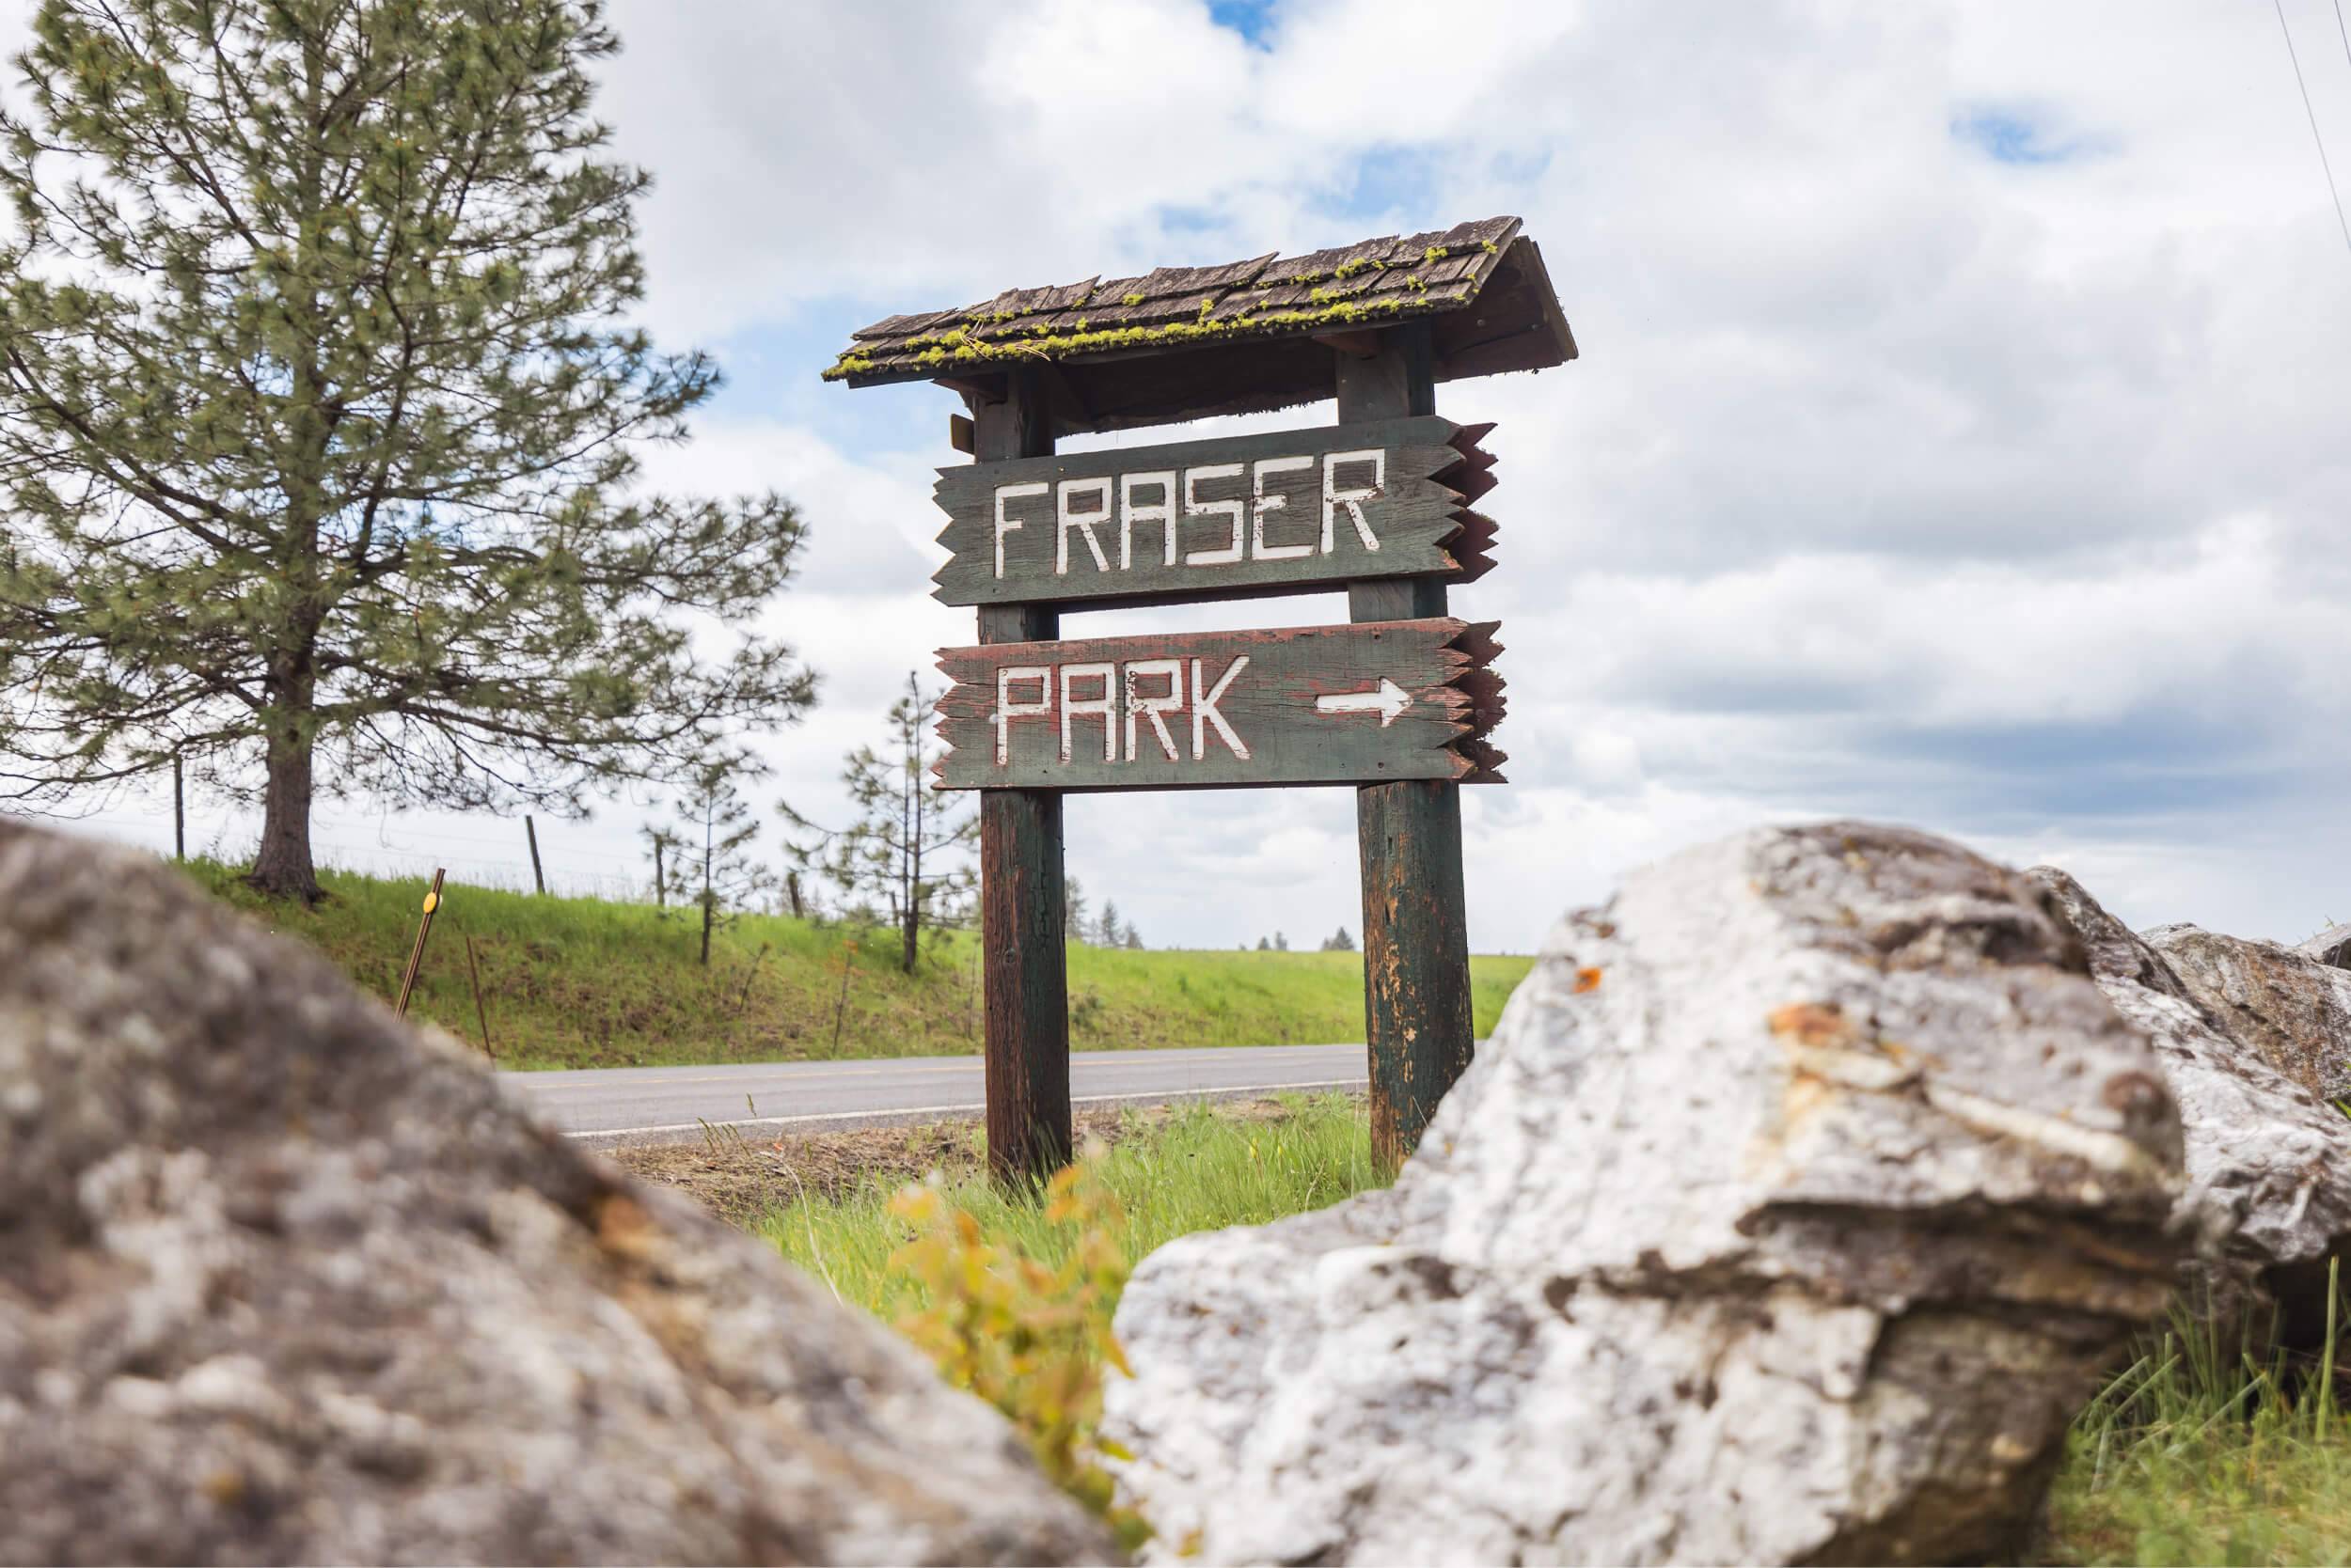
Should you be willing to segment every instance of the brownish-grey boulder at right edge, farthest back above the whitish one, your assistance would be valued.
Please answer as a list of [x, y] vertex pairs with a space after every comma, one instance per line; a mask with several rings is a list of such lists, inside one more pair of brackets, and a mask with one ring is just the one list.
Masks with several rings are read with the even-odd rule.
[[2351, 1098], [2351, 969], [2203, 926], [2151, 926], [2144, 940], [2224, 1034], [2320, 1100]]

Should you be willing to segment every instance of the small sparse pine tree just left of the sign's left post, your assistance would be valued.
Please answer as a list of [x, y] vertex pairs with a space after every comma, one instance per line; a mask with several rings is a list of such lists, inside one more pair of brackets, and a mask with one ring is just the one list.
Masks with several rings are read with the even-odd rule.
[[792, 827], [813, 835], [792, 844], [802, 865], [823, 870], [851, 898], [889, 905], [898, 929], [898, 966], [915, 973], [922, 952], [922, 929], [959, 919], [973, 889], [973, 870], [964, 858], [980, 832], [980, 818], [952, 809], [931, 788], [931, 764], [938, 745], [931, 736], [936, 691], [907, 672], [905, 696], [889, 710], [882, 752], [860, 745], [849, 752], [842, 780], [860, 818], [844, 830], [818, 827], [790, 802], [778, 804]]

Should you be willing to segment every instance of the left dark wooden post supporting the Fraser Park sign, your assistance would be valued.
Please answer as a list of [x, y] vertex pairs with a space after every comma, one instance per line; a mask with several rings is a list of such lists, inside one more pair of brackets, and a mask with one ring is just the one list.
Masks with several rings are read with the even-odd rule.
[[[973, 461], [1053, 454], [1041, 378], [1016, 367], [1004, 402], [971, 404]], [[980, 642], [1060, 632], [1051, 604], [983, 604]], [[1070, 959], [1063, 947], [1060, 795], [980, 795], [980, 940], [987, 952], [987, 1168], [1030, 1180], [1070, 1164]]]

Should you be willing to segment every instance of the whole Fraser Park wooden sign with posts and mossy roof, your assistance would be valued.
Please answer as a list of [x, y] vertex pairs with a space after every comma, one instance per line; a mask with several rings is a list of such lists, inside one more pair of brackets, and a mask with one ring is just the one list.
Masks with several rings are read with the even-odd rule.
[[[938, 597], [938, 783], [980, 790], [987, 1154], [1070, 1157], [1060, 799], [1354, 785], [1373, 1145], [1411, 1152], [1469, 1065], [1462, 783], [1500, 783], [1495, 623], [1448, 614], [1493, 567], [1491, 425], [1439, 381], [1575, 357], [1516, 219], [893, 315], [825, 371], [962, 393]], [[1338, 423], [1056, 454], [1060, 435], [1338, 400]], [[1060, 609], [1345, 590], [1347, 623], [1063, 639]]]

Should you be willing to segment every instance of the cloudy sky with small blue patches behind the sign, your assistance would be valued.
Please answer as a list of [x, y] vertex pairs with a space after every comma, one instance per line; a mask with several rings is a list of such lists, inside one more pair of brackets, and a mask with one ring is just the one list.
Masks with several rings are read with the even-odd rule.
[[[2283, 14], [2351, 176], [2351, 45], [2330, 0]], [[823, 705], [762, 741], [762, 799], [842, 818], [842, 752], [973, 639], [929, 599], [962, 402], [820, 383], [851, 329], [1516, 214], [1582, 357], [1439, 388], [1500, 456], [1498, 567], [1453, 595], [1502, 623], [1509, 679], [1512, 783], [1462, 804], [1476, 950], [1533, 950], [1679, 846], [1822, 816], [2064, 865], [2139, 926], [2351, 919], [2351, 242], [2271, 5], [618, 0], [614, 21], [600, 108], [656, 179], [644, 324], [729, 371], [654, 477], [776, 487], [813, 527], [764, 625]], [[1340, 618], [1260, 599], [1065, 635]], [[216, 802], [193, 818], [195, 849], [249, 844]], [[642, 882], [642, 818], [541, 818], [550, 877]], [[169, 839], [155, 802], [87, 825]], [[520, 816], [331, 802], [320, 842], [529, 875]], [[1150, 945], [1361, 924], [1347, 790], [1072, 797], [1067, 865]]]

